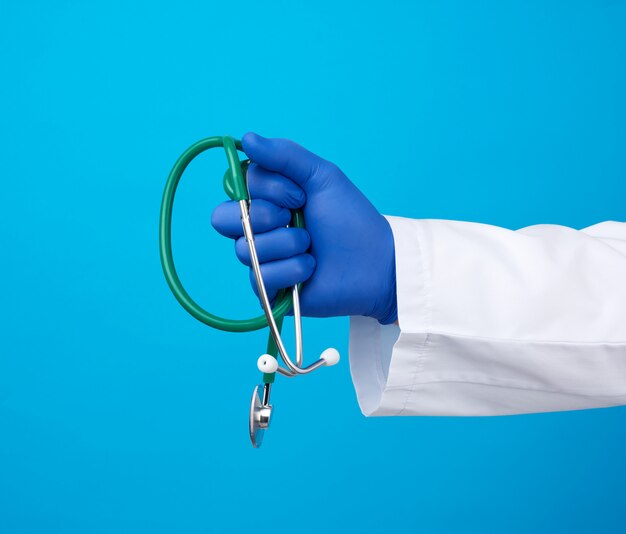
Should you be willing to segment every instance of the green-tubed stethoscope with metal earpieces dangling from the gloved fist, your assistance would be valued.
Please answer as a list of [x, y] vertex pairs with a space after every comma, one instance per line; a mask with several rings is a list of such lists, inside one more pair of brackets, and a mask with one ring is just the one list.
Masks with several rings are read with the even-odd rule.
[[[226, 152], [228, 170], [224, 174], [224, 190], [231, 200], [236, 200], [239, 203], [241, 225], [248, 244], [248, 250], [250, 251], [252, 270], [254, 271], [259, 299], [263, 307], [264, 315], [252, 319], [224, 319], [223, 317], [209, 313], [196, 303], [189, 296], [187, 291], [185, 291], [176, 273], [176, 268], [174, 267], [174, 259], [172, 256], [172, 208], [176, 188], [191, 161], [205, 150], [217, 147], [224, 147], [224, 151]], [[170, 171], [167, 183], [165, 184], [165, 191], [163, 192], [161, 217], [159, 221], [159, 247], [163, 272], [165, 273], [165, 279], [172, 293], [174, 293], [174, 296], [181, 306], [193, 317], [198, 319], [198, 321], [212, 328], [226, 330], [228, 332], [250, 332], [269, 326], [270, 336], [267, 343], [267, 353], [261, 355], [257, 361], [257, 367], [259, 371], [263, 373], [263, 381], [261, 384], [255, 386], [252, 392], [248, 423], [252, 445], [254, 447], [260, 447], [263, 441], [263, 434], [269, 427], [272, 417], [273, 408], [270, 404], [270, 392], [276, 373], [287, 377], [305, 375], [325, 365], [335, 365], [339, 361], [339, 352], [334, 348], [328, 348], [322, 352], [318, 360], [310, 365], [304, 365], [302, 358], [300, 284], [289, 289], [281, 290], [276, 297], [274, 308], [271, 307], [261, 274], [256, 246], [254, 244], [254, 232], [250, 224], [250, 193], [246, 180], [250, 161], [241, 161], [237, 153], [238, 150], [242, 150], [241, 141], [232, 137], [207, 137], [191, 145], [181, 154]], [[290, 226], [304, 228], [304, 217], [300, 210], [292, 210]], [[285, 313], [292, 307], [296, 341], [295, 362], [289, 357], [280, 335]], [[280, 354], [280, 358], [285, 367], [281, 367], [278, 364], [278, 354]]]

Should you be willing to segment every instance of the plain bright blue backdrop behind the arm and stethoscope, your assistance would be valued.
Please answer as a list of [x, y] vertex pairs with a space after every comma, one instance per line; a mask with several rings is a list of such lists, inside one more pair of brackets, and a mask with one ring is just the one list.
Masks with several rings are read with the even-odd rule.
[[[0, 532], [624, 532], [626, 409], [366, 419], [345, 318], [305, 322], [344, 359], [281, 380], [253, 450], [265, 333], [186, 315], [157, 221], [179, 153], [248, 130], [387, 214], [624, 220], [625, 35], [623, 1], [2, 2]], [[175, 253], [249, 316], [223, 168], [191, 166]]]

